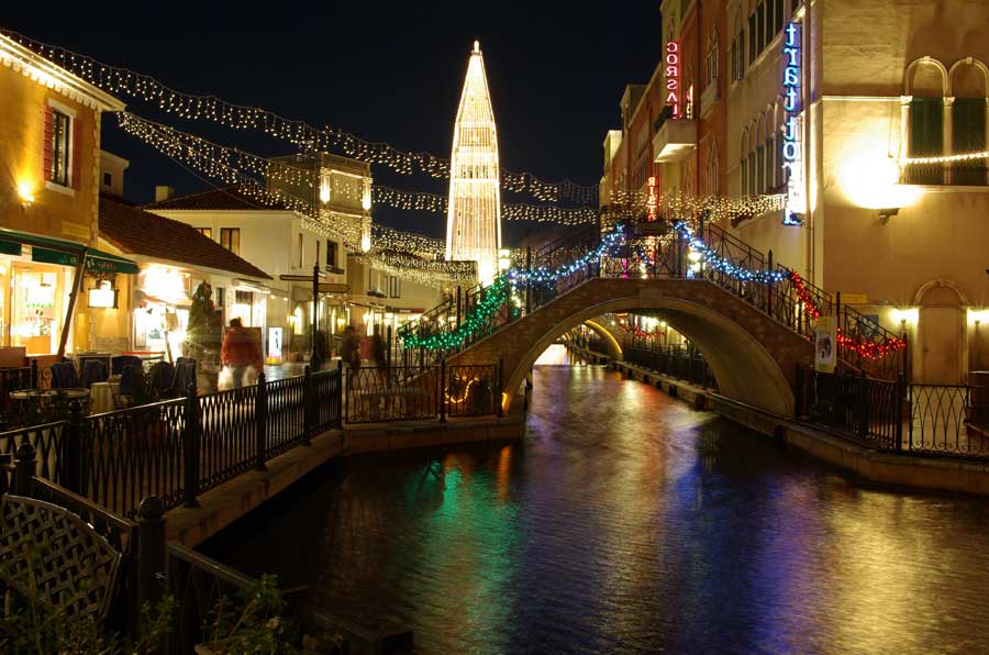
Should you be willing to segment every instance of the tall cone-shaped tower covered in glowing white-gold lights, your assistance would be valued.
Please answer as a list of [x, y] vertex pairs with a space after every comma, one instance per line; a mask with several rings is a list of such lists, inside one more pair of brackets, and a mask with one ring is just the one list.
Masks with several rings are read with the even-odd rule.
[[454, 124], [446, 258], [477, 262], [478, 279], [489, 281], [498, 270], [500, 247], [498, 134], [485, 60], [480, 44], [475, 41]]

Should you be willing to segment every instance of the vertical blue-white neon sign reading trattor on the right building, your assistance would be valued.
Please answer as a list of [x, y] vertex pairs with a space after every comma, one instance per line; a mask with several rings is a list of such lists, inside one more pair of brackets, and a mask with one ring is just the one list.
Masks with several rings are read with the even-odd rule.
[[784, 109], [787, 122], [782, 130], [782, 167], [789, 171], [784, 225], [800, 225], [807, 213], [803, 193], [803, 123], [800, 119], [800, 31], [797, 23], [788, 23], [784, 43]]

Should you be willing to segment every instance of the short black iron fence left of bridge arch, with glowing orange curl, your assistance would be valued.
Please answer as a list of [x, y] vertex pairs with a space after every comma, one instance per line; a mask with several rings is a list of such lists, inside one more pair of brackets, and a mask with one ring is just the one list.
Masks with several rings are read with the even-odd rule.
[[386, 366], [346, 371], [344, 421], [377, 423], [501, 411], [500, 366]]

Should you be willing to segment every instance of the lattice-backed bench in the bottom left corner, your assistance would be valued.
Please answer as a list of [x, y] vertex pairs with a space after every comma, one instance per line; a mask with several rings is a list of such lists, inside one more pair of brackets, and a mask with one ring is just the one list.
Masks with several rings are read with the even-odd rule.
[[[0, 498], [0, 590], [29, 597], [73, 619], [107, 619], [121, 553], [73, 512], [49, 502]], [[30, 580], [34, 578], [34, 582]]]

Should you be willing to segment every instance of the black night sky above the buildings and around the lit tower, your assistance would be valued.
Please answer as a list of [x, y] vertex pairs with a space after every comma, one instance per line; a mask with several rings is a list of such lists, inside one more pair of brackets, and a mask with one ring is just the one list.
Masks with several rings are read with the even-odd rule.
[[[646, 82], [662, 49], [658, 0], [602, 2], [327, 2], [266, 3], [263, 13], [212, 2], [43, 3], [4, 10], [3, 26], [155, 76], [176, 89], [332, 125], [410, 151], [449, 157], [453, 121], [468, 53], [479, 38], [494, 104], [503, 167], [544, 180], [584, 185], [601, 176], [602, 141], [620, 126], [619, 100], [629, 82]], [[536, 7], [537, 5], [537, 7]], [[29, 7], [36, 7], [30, 11]], [[152, 7], [154, 7], [152, 9]], [[233, 5], [232, 5], [233, 7]], [[248, 3], [238, 4], [248, 8]], [[287, 142], [182, 121], [123, 98], [134, 113], [260, 155], [295, 152]], [[154, 186], [179, 193], [210, 181], [186, 171], [103, 120], [103, 148], [131, 160], [125, 196], [153, 199]], [[445, 180], [373, 168], [375, 181], [445, 193]], [[219, 184], [219, 182], [218, 182]], [[507, 195], [507, 202], [538, 201]], [[376, 206], [375, 220], [442, 236], [445, 217]], [[538, 225], [532, 225], [538, 229]], [[525, 223], [505, 222], [518, 243]]]

